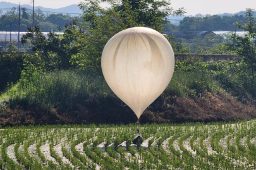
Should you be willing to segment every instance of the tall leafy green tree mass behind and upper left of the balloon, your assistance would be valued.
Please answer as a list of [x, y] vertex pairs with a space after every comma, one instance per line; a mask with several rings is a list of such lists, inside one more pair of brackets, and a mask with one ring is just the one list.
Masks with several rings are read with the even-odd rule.
[[[109, 3], [104, 9], [99, 4]], [[116, 33], [134, 26], [147, 26], [162, 32], [168, 23], [170, 14], [183, 14], [183, 8], [174, 10], [170, 1], [152, 0], [87, 0], [80, 3], [83, 9], [83, 30], [78, 38], [78, 54], [71, 57], [71, 62], [80, 67], [100, 69], [101, 53], [107, 41]]]

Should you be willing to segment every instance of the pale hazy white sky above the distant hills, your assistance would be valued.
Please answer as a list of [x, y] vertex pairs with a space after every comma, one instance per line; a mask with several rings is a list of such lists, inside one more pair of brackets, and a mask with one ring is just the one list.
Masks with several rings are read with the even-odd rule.
[[[33, 0], [8, 0], [7, 2], [30, 4], [30, 1]], [[82, 0], [35, 0], [35, 6], [61, 8], [71, 4], [78, 4], [81, 1]], [[239, 11], [245, 11], [246, 8], [256, 9], [256, 0], [171, 0], [171, 3], [174, 9], [184, 7], [187, 14], [193, 15], [198, 13], [237, 13]]]

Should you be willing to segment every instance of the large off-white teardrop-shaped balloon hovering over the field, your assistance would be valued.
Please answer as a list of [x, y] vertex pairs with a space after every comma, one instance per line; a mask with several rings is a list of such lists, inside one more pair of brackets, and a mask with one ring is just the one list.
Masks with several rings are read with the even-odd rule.
[[107, 42], [101, 67], [109, 87], [139, 119], [171, 81], [173, 48], [158, 31], [128, 28]]

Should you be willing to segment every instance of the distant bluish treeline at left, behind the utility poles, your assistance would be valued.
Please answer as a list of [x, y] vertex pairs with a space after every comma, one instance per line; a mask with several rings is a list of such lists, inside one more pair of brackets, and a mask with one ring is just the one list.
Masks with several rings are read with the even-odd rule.
[[[21, 8], [20, 10], [20, 31], [27, 31], [32, 26], [32, 10]], [[63, 29], [64, 25], [71, 23], [73, 19], [68, 14], [47, 14], [39, 8], [35, 9], [34, 24], [39, 25], [42, 31], [52, 31], [58, 28]], [[19, 8], [12, 8], [7, 13], [0, 15], [0, 31], [18, 31]]]

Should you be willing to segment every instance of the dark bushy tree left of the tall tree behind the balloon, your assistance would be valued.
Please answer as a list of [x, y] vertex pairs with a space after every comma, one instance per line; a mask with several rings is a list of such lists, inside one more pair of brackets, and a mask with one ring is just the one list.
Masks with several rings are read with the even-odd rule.
[[58, 35], [54, 31], [42, 34], [39, 25], [28, 28], [28, 33], [23, 35], [21, 43], [30, 42], [34, 52], [42, 52], [41, 60], [46, 71], [54, 69], [70, 69], [70, 57], [77, 53], [76, 38], [82, 33], [76, 26], [77, 21], [65, 26], [64, 35]]

